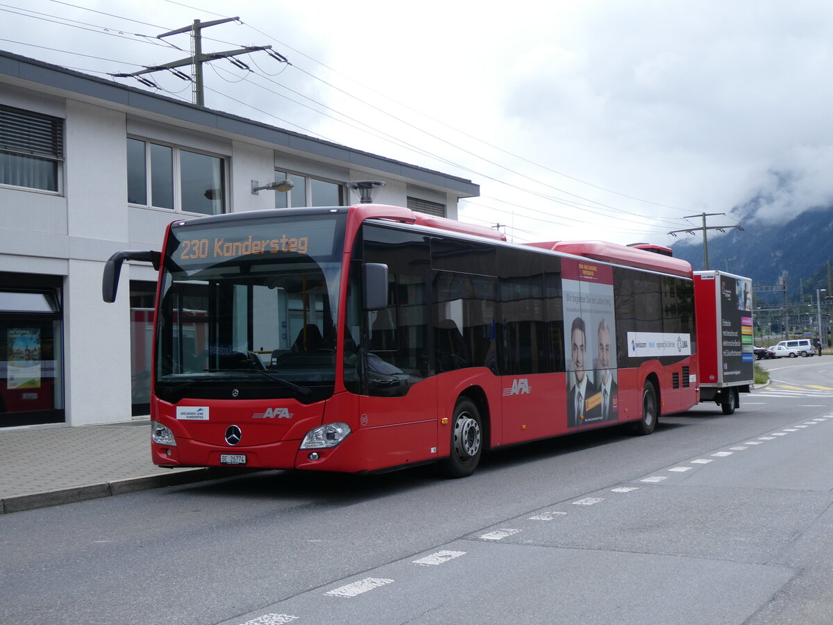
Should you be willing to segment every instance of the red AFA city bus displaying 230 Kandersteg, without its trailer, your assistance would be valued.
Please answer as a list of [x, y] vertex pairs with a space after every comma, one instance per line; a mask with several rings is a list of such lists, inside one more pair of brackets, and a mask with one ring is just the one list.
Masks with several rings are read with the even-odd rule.
[[167, 467], [471, 474], [489, 449], [697, 403], [691, 266], [608, 243], [516, 245], [357, 204], [172, 223], [152, 459]]

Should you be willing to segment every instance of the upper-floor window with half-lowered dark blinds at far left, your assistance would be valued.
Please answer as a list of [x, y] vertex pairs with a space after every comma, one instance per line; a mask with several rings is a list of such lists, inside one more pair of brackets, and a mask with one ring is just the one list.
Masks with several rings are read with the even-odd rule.
[[0, 106], [0, 184], [59, 191], [63, 120]]

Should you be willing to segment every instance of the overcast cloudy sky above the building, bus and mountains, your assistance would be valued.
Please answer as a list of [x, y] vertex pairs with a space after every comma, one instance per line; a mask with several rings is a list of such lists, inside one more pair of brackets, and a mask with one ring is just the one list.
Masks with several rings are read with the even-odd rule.
[[212, 62], [207, 107], [471, 179], [461, 219], [518, 242], [669, 244], [688, 215], [833, 204], [829, 0], [2, 0], [0, 48], [107, 77], [187, 57], [188, 35], [156, 36], [229, 17], [203, 52], [291, 65]]

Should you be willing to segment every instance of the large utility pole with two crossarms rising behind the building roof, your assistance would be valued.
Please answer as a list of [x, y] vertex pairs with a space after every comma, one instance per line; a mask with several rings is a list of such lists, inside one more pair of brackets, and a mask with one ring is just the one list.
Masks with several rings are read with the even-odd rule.
[[[248, 52], [257, 52], [259, 50], [266, 50], [267, 54], [272, 58], [277, 59], [280, 62], [287, 62], [287, 58], [283, 57], [281, 54], [272, 51], [272, 46], [247, 46], [247, 47], [240, 47], [237, 50], [227, 50], [226, 52], [208, 52], [207, 54], [202, 53], [202, 29], [208, 28], [210, 26], [217, 26], [217, 24], [224, 24], [227, 22], [235, 22], [239, 18], [225, 18], [225, 19], [216, 19], [213, 22], [205, 22], [202, 23], [198, 19], [194, 20], [194, 23], [191, 26], [186, 26], [184, 28], [177, 28], [177, 30], [172, 30], [170, 32], [163, 32], [161, 35], [157, 35], [157, 39], [162, 39], [162, 37], [169, 37], [171, 35], [178, 35], [182, 32], [191, 32], [191, 56], [182, 58], [178, 61], [172, 61], [168, 63], [163, 63], [162, 65], [154, 65], [152, 67], [146, 67], [138, 72], [126, 73], [126, 74], [110, 74], [114, 77], [119, 78], [127, 78], [127, 77], [136, 77], [139, 82], [142, 84], [147, 85], [148, 87], [156, 87], [152, 81], [149, 81], [145, 78], [141, 78], [142, 74], [149, 74], [152, 72], [161, 72], [163, 69], [169, 69], [171, 72], [177, 76], [182, 78], [183, 80], [189, 80], [189, 78], [183, 74], [182, 72], [177, 71], [177, 67], [185, 67], [186, 65], [191, 66], [191, 78], [192, 81], [192, 102], [194, 104], [198, 104], [199, 106], [205, 106], [205, 95], [203, 89], [203, 82], [202, 82], [202, 63], [215, 61], [218, 58], [230, 58], [230, 57], [237, 57], [240, 54], [247, 54]], [[242, 61], [238, 61], [237, 59], [231, 58], [232, 63], [240, 67], [241, 69], [248, 69], [246, 63]]]

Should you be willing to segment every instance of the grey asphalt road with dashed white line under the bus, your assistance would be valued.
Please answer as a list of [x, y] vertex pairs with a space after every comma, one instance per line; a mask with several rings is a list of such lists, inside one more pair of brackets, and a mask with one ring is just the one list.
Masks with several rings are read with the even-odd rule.
[[462, 480], [274, 471], [3, 515], [0, 622], [833, 622], [833, 358], [765, 366], [734, 415]]

